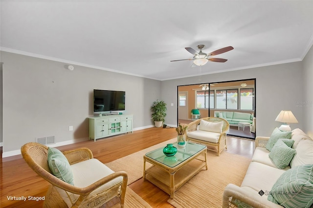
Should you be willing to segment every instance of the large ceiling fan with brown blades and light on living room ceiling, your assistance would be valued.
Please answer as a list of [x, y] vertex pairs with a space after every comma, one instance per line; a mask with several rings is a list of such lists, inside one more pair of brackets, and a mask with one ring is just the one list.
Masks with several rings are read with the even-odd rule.
[[202, 66], [205, 63], [207, 63], [208, 61], [210, 61], [210, 62], [226, 62], [227, 59], [211, 58], [211, 56], [222, 54], [222, 53], [225, 53], [227, 51], [234, 49], [232, 46], [227, 46], [227, 47], [224, 47], [224, 48], [221, 48], [221, 49], [218, 49], [216, 51], [213, 51], [211, 53], [206, 54], [206, 53], [202, 52], [204, 45], [198, 45], [197, 47], [200, 50], [199, 53], [190, 47], [185, 48], [189, 53], [194, 55], [194, 57], [192, 59], [180, 59], [180, 60], [173, 60], [171, 62], [184, 61], [184, 60], [194, 60], [194, 63], [191, 65], [191, 67], [195, 67], [196, 65]]

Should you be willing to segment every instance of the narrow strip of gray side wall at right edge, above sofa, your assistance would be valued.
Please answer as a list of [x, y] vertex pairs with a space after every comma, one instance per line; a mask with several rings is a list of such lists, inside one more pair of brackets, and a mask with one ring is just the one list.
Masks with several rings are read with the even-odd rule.
[[303, 131], [313, 138], [313, 47], [303, 60]]

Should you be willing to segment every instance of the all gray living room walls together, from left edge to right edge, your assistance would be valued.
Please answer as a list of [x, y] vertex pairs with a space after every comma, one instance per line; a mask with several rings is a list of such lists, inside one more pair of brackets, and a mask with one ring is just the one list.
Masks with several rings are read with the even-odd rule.
[[[168, 105], [165, 124], [177, 125], [177, 86], [256, 78], [257, 132], [268, 136], [281, 125], [275, 118], [291, 110], [302, 128], [313, 132], [313, 49], [303, 62], [258, 67], [168, 81], [156, 81], [83, 66], [66, 69], [67, 63], [1, 51], [3, 64], [3, 152], [17, 151], [36, 138], [55, 136], [56, 142], [88, 138], [92, 116], [92, 90], [126, 91], [126, 112], [134, 115], [134, 128], [153, 125], [150, 106], [157, 99]], [[205, 73], [205, 69], [202, 71]], [[299, 102], [307, 102], [299, 106]], [[171, 106], [173, 104], [173, 106]], [[148, 106], [148, 107], [147, 107]], [[0, 123], [1, 125], [1, 123]], [[68, 131], [73, 125], [74, 131]]]

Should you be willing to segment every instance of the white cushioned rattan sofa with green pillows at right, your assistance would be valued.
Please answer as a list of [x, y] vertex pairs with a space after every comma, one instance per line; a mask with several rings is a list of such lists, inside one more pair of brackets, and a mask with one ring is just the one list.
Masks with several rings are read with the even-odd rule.
[[[277, 128], [275, 130], [277, 130]], [[277, 156], [275, 155], [275, 151], [279, 144], [274, 143], [276, 146], [274, 147], [272, 145], [271, 151], [267, 149], [270, 148], [270, 144], [273, 142], [272, 135], [271, 137], [256, 137], [256, 148], [242, 185], [241, 187], [238, 187], [234, 184], [228, 184], [225, 187], [223, 194], [223, 208], [233, 206], [245, 208], [287, 208], [292, 207], [290, 204], [297, 203], [297, 200], [299, 200], [300, 197], [305, 197], [305, 202], [303, 202], [304, 204], [298, 204], [295, 207], [313, 207], [311, 204], [311, 202], [313, 203], [313, 139], [306, 135], [301, 129], [294, 129], [291, 132], [291, 139], [279, 139], [280, 142], [276, 142], [280, 144], [282, 141], [291, 143], [294, 141], [292, 146], [288, 147], [291, 152], [295, 152], [294, 156], [292, 154], [290, 156], [282, 156], [283, 154], [280, 153], [277, 154]], [[269, 140], [270, 138], [271, 140]], [[273, 160], [270, 159], [270, 157]], [[292, 158], [291, 162], [285, 168], [282, 168], [284, 166], [280, 166], [281, 164], [276, 161], [276, 159], [279, 160], [280, 158], [285, 160], [285, 163], [288, 163], [286, 158], [288, 159], [289, 157]], [[276, 162], [273, 162], [274, 160]], [[278, 168], [277, 165], [282, 169]], [[309, 171], [301, 172], [300, 170], [303, 168]], [[309, 178], [304, 185], [302, 184], [303, 186], [299, 185], [303, 181], [301, 182], [300, 179], [297, 178], [301, 177], [296, 175], [300, 173], [304, 178]], [[284, 181], [284, 183], [281, 183], [282, 181]], [[288, 189], [288, 187], [291, 187], [291, 184], [292, 186], [297, 184], [302, 188], [300, 190], [294, 189], [295, 192], [298, 191], [300, 194], [295, 194], [295, 192], [291, 193]], [[285, 189], [286, 187], [287, 189]], [[309, 195], [301, 195], [306, 194], [308, 191]], [[277, 197], [281, 197], [279, 198], [279, 200], [281, 200], [280, 204], [275, 204], [268, 199], [274, 198], [276, 200]], [[308, 197], [309, 199], [307, 199]], [[307, 200], [309, 200], [309, 202], [306, 202]]]

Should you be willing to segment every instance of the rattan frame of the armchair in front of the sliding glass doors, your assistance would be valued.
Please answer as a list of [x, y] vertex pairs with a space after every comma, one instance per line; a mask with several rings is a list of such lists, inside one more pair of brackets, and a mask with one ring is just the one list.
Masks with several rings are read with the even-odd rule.
[[[197, 139], [197, 138], [192, 138], [191, 134], [189, 134], [192, 131], [197, 131], [197, 127], [200, 124], [201, 120], [207, 121], [207, 122], [223, 122], [223, 128], [222, 128], [222, 133], [218, 134], [218, 139], [217, 141], [213, 142], [211, 138], [209, 138], [212, 134], [207, 134], [208, 139]], [[191, 122], [188, 124], [187, 131], [186, 131], [186, 140], [187, 141], [194, 141], [194, 142], [199, 142], [202, 144], [205, 144], [206, 146], [214, 146], [217, 151], [217, 155], [220, 156], [220, 153], [223, 151], [223, 149], [227, 149], [226, 146], [226, 133], [229, 129], [229, 123], [222, 118], [216, 118], [216, 117], [206, 117], [206, 118], [201, 118], [198, 119], [194, 122]], [[215, 133], [216, 134], [216, 133]]]

